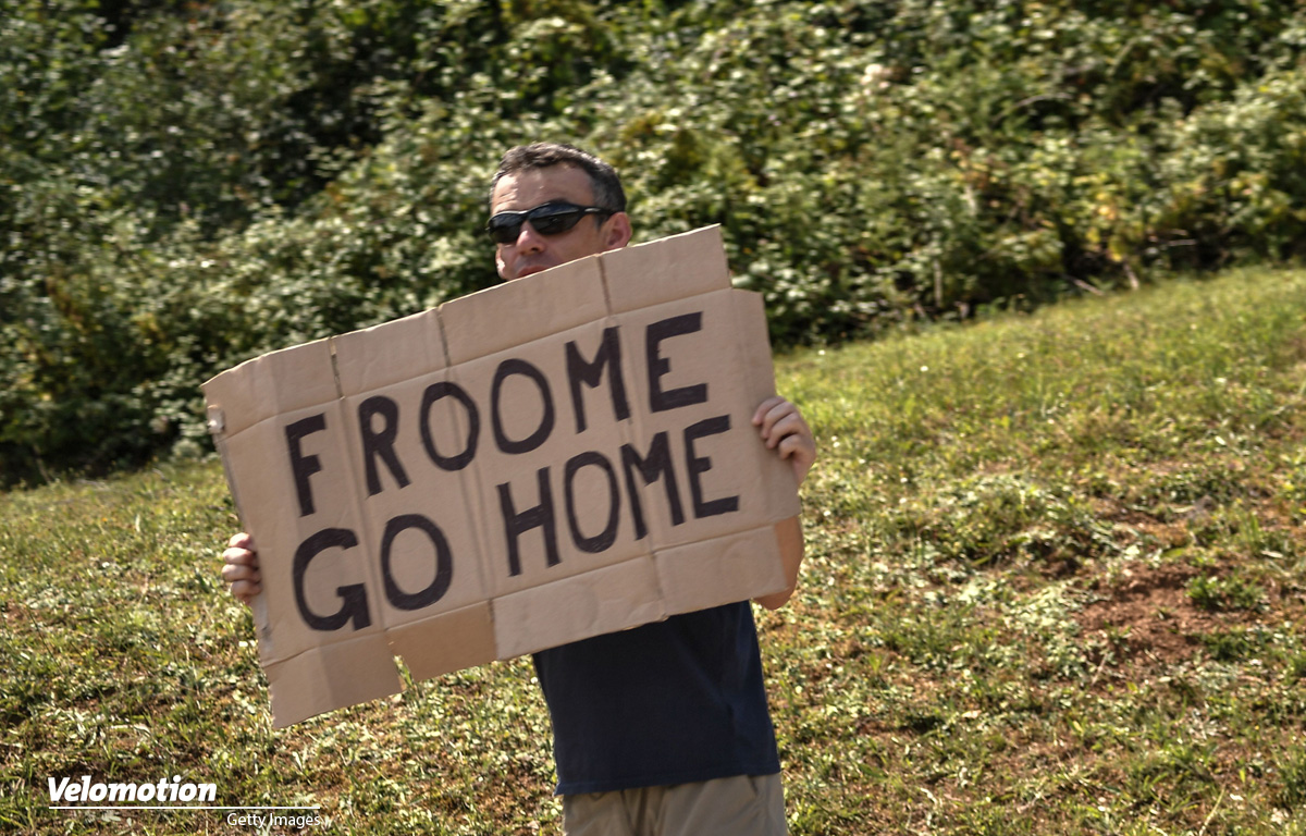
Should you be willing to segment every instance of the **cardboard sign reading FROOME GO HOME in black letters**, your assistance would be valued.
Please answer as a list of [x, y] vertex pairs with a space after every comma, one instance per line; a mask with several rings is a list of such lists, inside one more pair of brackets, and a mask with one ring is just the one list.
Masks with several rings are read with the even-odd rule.
[[716, 227], [209, 380], [276, 725], [784, 589], [773, 392]]

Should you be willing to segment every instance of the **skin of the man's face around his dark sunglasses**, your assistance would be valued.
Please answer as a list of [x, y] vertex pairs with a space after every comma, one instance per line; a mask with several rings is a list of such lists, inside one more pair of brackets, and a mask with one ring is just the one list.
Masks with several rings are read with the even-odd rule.
[[[495, 184], [490, 214], [525, 212], [550, 201], [594, 205], [589, 175], [567, 165], [505, 175]], [[619, 249], [631, 240], [631, 221], [624, 212], [606, 217], [602, 223], [597, 218], [605, 216], [586, 216], [565, 233], [551, 236], [537, 233], [529, 221], [522, 223], [515, 242], [496, 246], [495, 264], [500, 278], [512, 281], [530, 276], [576, 259]]]

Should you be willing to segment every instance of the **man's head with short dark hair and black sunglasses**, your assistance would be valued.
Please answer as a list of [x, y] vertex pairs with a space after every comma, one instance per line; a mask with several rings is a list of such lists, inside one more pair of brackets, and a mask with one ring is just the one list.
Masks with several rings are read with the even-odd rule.
[[490, 216], [495, 264], [509, 281], [631, 240], [616, 171], [571, 145], [520, 145], [504, 154], [490, 185]]

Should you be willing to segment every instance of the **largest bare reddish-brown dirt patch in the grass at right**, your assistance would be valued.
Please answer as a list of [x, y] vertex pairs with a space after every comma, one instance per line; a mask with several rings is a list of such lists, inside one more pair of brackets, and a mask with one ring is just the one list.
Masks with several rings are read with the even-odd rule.
[[1226, 627], [1226, 619], [1194, 606], [1186, 566], [1139, 566], [1124, 570], [1097, 592], [1104, 600], [1077, 615], [1085, 639], [1106, 639], [1121, 661], [1171, 665], [1202, 648], [1202, 636]]

